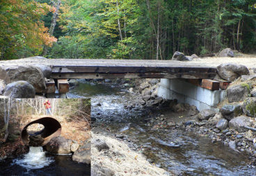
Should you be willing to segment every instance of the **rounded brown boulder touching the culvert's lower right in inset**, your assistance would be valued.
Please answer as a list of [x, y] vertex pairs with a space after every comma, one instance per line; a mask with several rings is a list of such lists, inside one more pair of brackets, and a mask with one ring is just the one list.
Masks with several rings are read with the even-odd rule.
[[71, 153], [71, 145], [72, 141], [70, 139], [54, 137], [45, 145], [45, 149], [54, 154], [69, 154]]

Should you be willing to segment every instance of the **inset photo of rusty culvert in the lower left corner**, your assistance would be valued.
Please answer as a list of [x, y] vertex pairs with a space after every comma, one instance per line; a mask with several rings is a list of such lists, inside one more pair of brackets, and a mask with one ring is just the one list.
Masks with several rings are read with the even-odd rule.
[[0, 99], [0, 175], [90, 175], [90, 99]]

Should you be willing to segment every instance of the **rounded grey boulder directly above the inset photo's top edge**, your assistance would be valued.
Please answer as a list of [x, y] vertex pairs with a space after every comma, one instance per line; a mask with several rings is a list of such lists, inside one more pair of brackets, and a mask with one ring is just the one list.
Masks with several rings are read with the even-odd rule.
[[3, 96], [10, 98], [35, 98], [35, 88], [24, 80], [19, 80], [6, 85]]

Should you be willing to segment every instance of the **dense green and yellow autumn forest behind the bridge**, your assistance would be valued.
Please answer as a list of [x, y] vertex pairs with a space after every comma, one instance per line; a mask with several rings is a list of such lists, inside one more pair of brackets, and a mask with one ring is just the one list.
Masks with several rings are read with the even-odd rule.
[[0, 60], [168, 60], [256, 48], [255, 0], [0, 0]]

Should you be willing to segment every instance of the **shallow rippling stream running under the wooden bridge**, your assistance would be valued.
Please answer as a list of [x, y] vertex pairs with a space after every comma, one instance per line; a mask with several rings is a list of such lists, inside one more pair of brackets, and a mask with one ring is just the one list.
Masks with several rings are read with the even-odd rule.
[[[136, 95], [106, 84], [79, 82], [68, 96], [92, 98], [92, 118], [115, 134], [127, 136], [148, 161], [179, 175], [256, 175], [256, 168], [246, 164], [246, 156], [221, 143], [211, 143], [184, 129], [154, 130], [145, 118], [154, 116], [136, 105]], [[173, 118], [176, 118], [173, 116]], [[128, 140], [127, 140], [128, 141]]]

